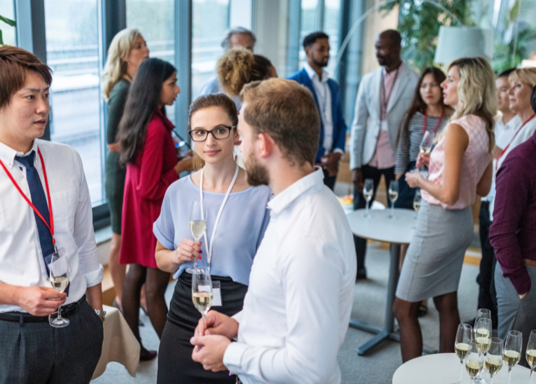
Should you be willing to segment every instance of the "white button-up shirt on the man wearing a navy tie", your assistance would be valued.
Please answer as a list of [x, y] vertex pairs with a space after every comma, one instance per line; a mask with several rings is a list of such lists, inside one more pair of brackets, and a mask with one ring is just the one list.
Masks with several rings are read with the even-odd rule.
[[[87, 287], [102, 282], [102, 265], [97, 258], [88, 185], [82, 159], [73, 148], [35, 140], [32, 147], [32, 151], [35, 151], [34, 165], [45, 195], [38, 147], [48, 177], [54, 237], [58, 249], [64, 249], [68, 256], [70, 287], [66, 304], [70, 304], [82, 298]], [[15, 156], [23, 155], [0, 143], [0, 160], [31, 201], [26, 168], [15, 160]], [[50, 282], [46, 280], [48, 276], [35, 220], [33, 209], [0, 167], [0, 282], [22, 287], [50, 287]], [[15, 305], [0, 305], [0, 312], [7, 311], [23, 309]]]

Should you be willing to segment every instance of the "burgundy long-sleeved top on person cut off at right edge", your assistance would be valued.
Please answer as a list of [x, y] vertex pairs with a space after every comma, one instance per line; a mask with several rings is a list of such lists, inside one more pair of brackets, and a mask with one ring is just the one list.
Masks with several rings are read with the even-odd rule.
[[530, 291], [523, 259], [536, 261], [536, 133], [515, 147], [497, 172], [490, 242], [504, 277], [518, 294]]

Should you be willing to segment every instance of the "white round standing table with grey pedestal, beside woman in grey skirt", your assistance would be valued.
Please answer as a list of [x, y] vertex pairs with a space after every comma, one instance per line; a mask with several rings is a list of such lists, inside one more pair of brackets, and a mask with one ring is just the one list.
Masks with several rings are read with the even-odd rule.
[[[370, 209], [368, 214], [370, 218], [363, 217], [365, 215], [365, 209], [358, 209], [349, 213], [347, 218], [348, 222], [350, 222], [350, 229], [352, 229], [352, 233], [355, 236], [360, 238], [390, 242], [391, 261], [383, 328], [355, 318], [350, 319], [350, 327], [376, 334], [367, 343], [358, 347], [356, 351], [358, 355], [366, 354], [370, 349], [382, 343], [384, 340], [400, 341], [399, 334], [394, 332], [394, 315], [392, 313], [396, 285], [399, 282], [400, 245], [410, 243], [415, 225], [417, 224], [417, 213], [409, 209], [394, 209], [394, 219], [389, 218], [391, 209]], [[428, 347], [424, 349], [425, 352], [432, 352]]]

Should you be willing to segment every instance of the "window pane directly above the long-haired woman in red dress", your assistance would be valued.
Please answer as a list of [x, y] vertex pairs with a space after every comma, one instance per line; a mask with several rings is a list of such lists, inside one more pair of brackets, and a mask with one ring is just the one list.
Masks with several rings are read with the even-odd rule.
[[[126, 0], [126, 26], [142, 32], [150, 57], [175, 65], [174, 0]], [[166, 115], [175, 124], [175, 104], [166, 106]]]

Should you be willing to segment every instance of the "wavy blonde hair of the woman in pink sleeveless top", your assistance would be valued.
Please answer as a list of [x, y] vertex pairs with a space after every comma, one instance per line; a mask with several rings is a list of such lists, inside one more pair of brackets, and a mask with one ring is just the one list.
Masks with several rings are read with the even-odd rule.
[[[486, 123], [491, 152], [495, 147], [495, 115], [497, 115], [497, 97], [495, 96], [495, 73], [484, 57], [463, 57], [450, 63], [448, 69], [457, 67], [460, 76], [458, 83], [458, 105], [450, 117], [455, 119], [466, 115], [476, 115]], [[444, 135], [445, 130], [439, 135]]]

